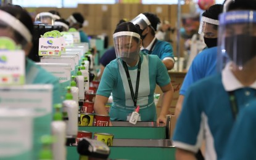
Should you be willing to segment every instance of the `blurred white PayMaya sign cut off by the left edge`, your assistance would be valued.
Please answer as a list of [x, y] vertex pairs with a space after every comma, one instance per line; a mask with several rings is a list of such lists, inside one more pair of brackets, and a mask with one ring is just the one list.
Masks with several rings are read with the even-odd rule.
[[23, 50], [0, 52], [0, 86], [25, 84], [25, 53]]

